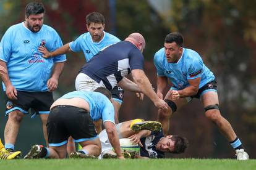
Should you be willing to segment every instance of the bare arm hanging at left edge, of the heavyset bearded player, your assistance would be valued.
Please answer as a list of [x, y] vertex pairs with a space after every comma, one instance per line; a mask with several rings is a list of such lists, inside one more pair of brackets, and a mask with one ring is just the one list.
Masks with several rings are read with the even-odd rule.
[[[6, 62], [0, 60], [0, 66], [7, 70]], [[14, 86], [12, 86], [12, 83], [10, 81], [8, 73], [5, 73], [1, 75], [2, 81], [4, 82], [4, 85], [6, 85], [6, 95], [9, 99], [17, 99], [17, 90]]]

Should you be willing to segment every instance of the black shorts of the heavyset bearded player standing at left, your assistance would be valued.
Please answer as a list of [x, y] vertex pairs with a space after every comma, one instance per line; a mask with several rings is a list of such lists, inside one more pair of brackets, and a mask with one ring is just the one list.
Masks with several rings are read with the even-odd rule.
[[52, 104], [53, 93], [51, 92], [17, 91], [17, 100], [8, 99], [6, 95], [6, 115], [14, 110], [27, 114], [29, 108], [33, 108], [37, 113], [49, 114]]

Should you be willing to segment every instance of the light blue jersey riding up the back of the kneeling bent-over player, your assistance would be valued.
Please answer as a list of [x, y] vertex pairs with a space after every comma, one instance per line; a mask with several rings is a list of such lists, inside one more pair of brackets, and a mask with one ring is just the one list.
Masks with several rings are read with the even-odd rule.
[[79, 97], [89, 103], [90, 116], [93, 121], [102, 119], [103, 122], [111, 121], [114, 123], [114, 107], [108, 97], [100, 92], [74, 91], [63, 95], [61, 98], [70, 99]]

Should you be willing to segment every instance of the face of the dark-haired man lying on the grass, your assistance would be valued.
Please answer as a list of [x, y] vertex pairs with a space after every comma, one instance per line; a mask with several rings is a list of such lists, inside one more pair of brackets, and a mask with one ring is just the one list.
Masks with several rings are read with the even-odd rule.
[[162, 152], [173, 152], [174, 151], [174, 142], [171, 140], [172, 136], [162, 137], [159, 142], [156, 144], [156, 149]]

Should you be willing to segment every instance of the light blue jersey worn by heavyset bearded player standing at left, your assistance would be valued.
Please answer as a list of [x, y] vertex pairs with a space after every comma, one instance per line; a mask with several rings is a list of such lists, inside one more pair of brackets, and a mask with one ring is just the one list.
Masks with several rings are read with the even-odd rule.
[[[50, 59], [41, 57], [38, 47], [45, 43], [49, 51], [62, 46], [58, 33], [50, 26], [43, 25], [33, 33], [24, 23], [11, 26], [0, 42], [0, 60], [7, 63], [12, 85], [20, 91], [48, 91], [47, 81], [56, 62], [66, 61], [66, 55]], [[6, 87], [2, 83], [4, 91]]]

